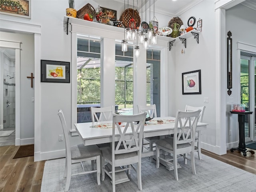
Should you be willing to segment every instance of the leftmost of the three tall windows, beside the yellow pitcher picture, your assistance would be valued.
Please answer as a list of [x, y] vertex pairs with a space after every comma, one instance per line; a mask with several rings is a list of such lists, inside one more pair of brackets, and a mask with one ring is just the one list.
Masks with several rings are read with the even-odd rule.
[[77, 104], [100, 104], [100, 40], [77, 39]]

